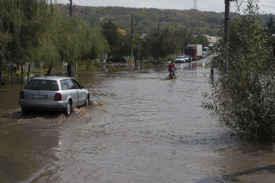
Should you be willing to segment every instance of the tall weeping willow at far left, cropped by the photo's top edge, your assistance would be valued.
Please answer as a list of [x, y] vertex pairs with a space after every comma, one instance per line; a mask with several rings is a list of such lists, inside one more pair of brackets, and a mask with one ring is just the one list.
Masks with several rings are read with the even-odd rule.
[[23, 83], [23, 65], [29, 63], [30, 68], [39, 55], [37, 48], [40, 46], [41, 30], [44, 30], [41, 25], [47, 14], [48, 0], [2, 0], [0, 5], [1, 32], [3, 35], [12, 35], [10, 41], [6, 39], [5, 49], [2, 47], [1, 65], [4, 61], [11, 64], [11, 82], [13, 64], [20, 65]]

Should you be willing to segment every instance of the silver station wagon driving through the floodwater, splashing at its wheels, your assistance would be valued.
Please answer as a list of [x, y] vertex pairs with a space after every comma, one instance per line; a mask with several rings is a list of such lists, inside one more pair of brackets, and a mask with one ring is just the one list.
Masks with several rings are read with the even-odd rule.
[[30, 110], [63, 111], [66, 116], [72, 107], [89, 106], [90, 93], [71, 77], [43, 76], [32, 78], [20, 92], [22, 113]]

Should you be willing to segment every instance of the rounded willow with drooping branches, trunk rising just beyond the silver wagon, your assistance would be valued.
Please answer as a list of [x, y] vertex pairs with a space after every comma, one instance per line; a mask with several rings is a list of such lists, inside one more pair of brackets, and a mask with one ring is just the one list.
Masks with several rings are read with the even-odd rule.
[[72, 77], [72, 65], [85, 56], [98, 57], [107, 50], [107, 42], [99, 30], [93, 29], [79, 16], [74, 15], [61, 22], [58, 52], [64, 62], [70, 64], [69, 76]]

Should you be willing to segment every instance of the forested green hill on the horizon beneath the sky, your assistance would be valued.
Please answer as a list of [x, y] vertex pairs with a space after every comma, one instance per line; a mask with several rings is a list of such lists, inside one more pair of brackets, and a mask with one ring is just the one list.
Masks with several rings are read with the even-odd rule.
[[[59, 4], [60, 7], [67, 8], [67, 5]], [[93, 26], [102, 26], [104, 23], [112, 20], [120, 29], [131, 32], [131, 16], [133, 15], [133, 27], [136, 27], [134, 34], [149, 33], [151, 30], [169, 28], [175, 31], [186, 31], [192, 34], [206, 34], [210, 36], [217, 35], [219, 30], [218, 24], [224, 20], [224, 12], [207, 12], [177, 9], [155, 9], [155, 8], [127, 8], [118, 6], [93, 7], [93, 6], [73, 6], [73, 15], [79, 15], [83, 20], [86, 20]], [[167, 17], [168, 18], [164, 18]], [[230, 13], [231, 19], [237, 14]], [[266, 20], [275, 15], [262, 14], [263, 18], [261, 25], [266, 23]], [[164, 18], [163, 20], [161, 20]], [[161, 20], [161, 21], [160, 21]], [[188, 28], [186, 28], [188, 27]], [[186, 29], [185, 29], [186, 28]]]

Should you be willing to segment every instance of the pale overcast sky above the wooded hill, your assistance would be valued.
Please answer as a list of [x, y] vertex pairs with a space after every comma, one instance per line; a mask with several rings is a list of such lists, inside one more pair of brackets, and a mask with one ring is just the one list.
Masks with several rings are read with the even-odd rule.
[[[58, 3], [67, 4], [69, 0], [57, 0]], [[200, 11], [224, 12], [224, 0], [72, 0], [73, 5], [77, 6], [124, 6], [130, 8], [157, 8], [157, 9], [193, 9], [194, 2]], [[240, 4], [242, 0], [238, 0]], [[243, 0], [241, 9], [247, 5], [247, 0]], [[275, 14], [274, 0], [260, 0], [258, 3], [260, 12]], [[230, 12], [236, 11], [236, 2], [231, 2]], [[240, 11], [242, 13], [242, 11]]]

